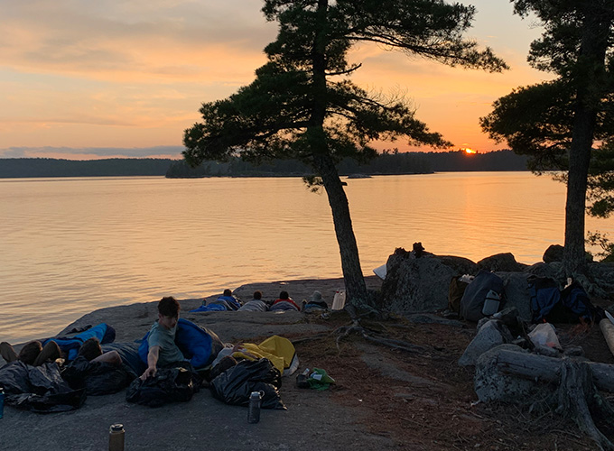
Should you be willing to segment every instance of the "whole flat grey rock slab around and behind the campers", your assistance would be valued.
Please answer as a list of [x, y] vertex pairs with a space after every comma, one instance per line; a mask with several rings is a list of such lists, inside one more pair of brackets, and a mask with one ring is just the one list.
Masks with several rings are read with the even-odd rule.
[[[377, 288], [376, 278], [367, 280], [369, 286]], [[263, 290], [276, 296], [281, 286], [300, 301], [311, 296], [313, 290], [321, 290], [331, 302], [330, 291], [334, 294], [334, 290], [343, 287], [341, 280], [281, 283], [251, 284], [236, 292]], [[241, 297], [249, 299], [249, 296]], [[209, 327], [224, 341], [247, 341], [271, 335], [304, 336], [330, 330], [330, 327], [306, 323], [304, 314], [299, 312], [187, 312], [200, 306], [201, 301], [181, 300], [181, 317]], [[157, 302], [148, 302], [101, 308], [79, 318], [62, 333], [74, 327], [107, 322], [116, 329], [116, 342], [134, 341], [152, 326], [157, 318], [156, 306]], [[284, 378], [281, 389], [288, 410], [262, 410], [260, 422], [255, 425], [247, 423], [246, 408], [213, 399], [209, 389], [202, 389], [188, 402], [159, 409], [130, 404], [125, 397], [126, 391], [90, 396], [79, 410], [47, 415], [5, 406], [5, 417], [0, 419], [0, 448], [3, 451], [100, 451], [108, 447], [109, 426], [122, 423], [126, 429], [126, 450], [131, 451], [398, 449], [391, 438], [370, 434], [359, 425], [363, 413], [358, 400], [356, 406], [341, 406], [332, 400], [334, 393], [330, 391], [297, 389], [293, 376]]]

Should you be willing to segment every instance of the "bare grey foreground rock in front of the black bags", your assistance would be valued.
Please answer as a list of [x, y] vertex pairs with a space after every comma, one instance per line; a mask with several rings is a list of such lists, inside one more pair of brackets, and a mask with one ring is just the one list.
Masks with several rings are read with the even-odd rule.
[[247, 423], [247, 408], [215, 400], [209, 389], [159, 409], [127, 403], [125, 391], [88, 397], [81, 409], [66, 413], [39, 415], [5, 407], [0, 448], [105, 450], [109, 426], [122, 423], [130, 451], [398, 449], [390, 438], [358, 426], [357, 409], [332, 402], [327, 391], [297, 389], [291, 379], [284, 379], [282, 387], [288, 410], [262, 410], [257, 424]]

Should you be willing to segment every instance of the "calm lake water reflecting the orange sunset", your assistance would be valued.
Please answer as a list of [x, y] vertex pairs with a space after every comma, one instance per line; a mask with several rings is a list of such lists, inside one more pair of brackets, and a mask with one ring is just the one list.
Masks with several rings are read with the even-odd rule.
[[[564, 186], [547, 176], [386, 176], [346, 188], [365, 274], [416, 241], [526, 263], [563, 244]], [[0, 341], [55, 335], [96, 308], [341, 275], [328, 200], [301, 179], [0, 179], [0, 215]], [[611, 220], [587, 228], [614, 235]]]

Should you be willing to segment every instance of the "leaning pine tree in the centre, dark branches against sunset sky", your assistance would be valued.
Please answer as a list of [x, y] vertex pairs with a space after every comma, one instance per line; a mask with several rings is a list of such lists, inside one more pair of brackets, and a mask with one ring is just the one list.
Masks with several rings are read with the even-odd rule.
[[192, 164], [237, 154], [309, 164], [317, 176], [312, 182], [329, 198], [348, 298], [360, 303], [367, 290], [336, 164], [345, 157], [373, 158], [373, 141], [450, 143], [415, 119], [403, 98], [372, 95], [353, 84], [349, 76], [360, 65], [349, 64], [349, 50], [370, 41], [451, 66], [498, 71], [506, 65], [463, 38], [474, 15], [470, 6], [442, 0], [265, 0], [263, 12], [279, 23], [277, 39], [265, 48], [268, 62], [249, 86], [203, 104], [202, 122], [185, 131], [183, 154]]

